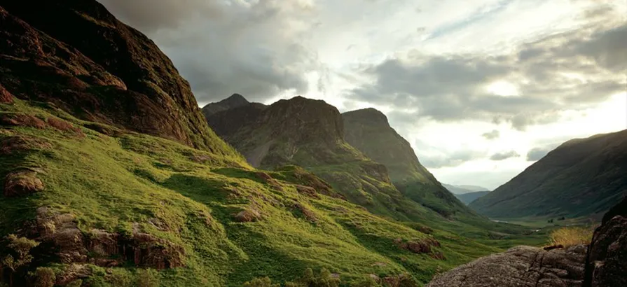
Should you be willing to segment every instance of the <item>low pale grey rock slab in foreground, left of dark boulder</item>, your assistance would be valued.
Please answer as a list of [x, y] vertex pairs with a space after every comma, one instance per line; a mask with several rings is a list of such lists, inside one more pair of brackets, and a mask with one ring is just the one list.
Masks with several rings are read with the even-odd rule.
[[518, 246], [436, 276], [427, 286], [579, 287], [585, 258], [583, 245], [551, 251]]

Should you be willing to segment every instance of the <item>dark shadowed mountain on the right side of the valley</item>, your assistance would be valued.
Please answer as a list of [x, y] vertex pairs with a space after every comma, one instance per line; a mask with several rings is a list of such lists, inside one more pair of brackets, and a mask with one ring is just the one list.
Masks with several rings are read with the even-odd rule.
[[627, 194], [627, 130], [572, 139], [470, 207], [493, 218], [598, 217]]

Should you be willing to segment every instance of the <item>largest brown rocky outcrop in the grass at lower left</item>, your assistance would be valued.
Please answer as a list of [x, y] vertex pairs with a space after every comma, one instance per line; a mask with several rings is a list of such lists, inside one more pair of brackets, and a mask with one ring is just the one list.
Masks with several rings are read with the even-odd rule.
[[38, 240], [52, 244], [63, 263], [90, 262], [103, 267], [121, 265], [125, 261], [156, 269], [184, 265], [184, 249], [165, 239], [139, 230], [131, 237], [104, 230], [91, 230], [87, 235], [78, 229], [74, 216], [57, 214], [46, 207], [37, 209]]

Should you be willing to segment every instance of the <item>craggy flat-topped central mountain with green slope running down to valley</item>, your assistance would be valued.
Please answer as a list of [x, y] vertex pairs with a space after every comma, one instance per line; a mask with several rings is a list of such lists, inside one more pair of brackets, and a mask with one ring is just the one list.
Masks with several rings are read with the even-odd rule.
[[249, 104], [215, 113], [207, 122], [254, 167], [298, 165], [377, 214], [401, 220], [439, 217], [404, 197], [384, 165], [344, 140], [341, 114], [324, 101], [294, 97], [267, 107]]

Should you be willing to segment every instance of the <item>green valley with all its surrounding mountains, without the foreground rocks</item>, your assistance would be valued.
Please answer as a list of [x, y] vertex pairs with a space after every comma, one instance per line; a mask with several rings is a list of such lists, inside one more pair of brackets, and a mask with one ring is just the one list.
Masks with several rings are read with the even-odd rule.
[[427, 286], [515, 246], [563, 253], [564, 226], [623, 238], [625, 131], [449, 186], [376, 109], [201, 109], [94, 0], [0, 1], [0, 76], [0, 286]]

